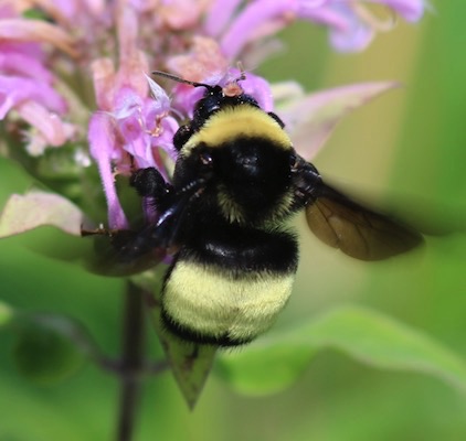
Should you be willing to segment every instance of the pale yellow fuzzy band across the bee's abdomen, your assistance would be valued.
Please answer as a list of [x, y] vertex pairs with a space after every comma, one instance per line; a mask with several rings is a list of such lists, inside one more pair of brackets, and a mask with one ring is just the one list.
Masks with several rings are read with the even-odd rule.
[[204, 337], [248, 342], [271, 327], [293, 281], [293, 273], [251, 272], [234, 278], [179, 261], [166, 282], [163, 309], [174, 323]]

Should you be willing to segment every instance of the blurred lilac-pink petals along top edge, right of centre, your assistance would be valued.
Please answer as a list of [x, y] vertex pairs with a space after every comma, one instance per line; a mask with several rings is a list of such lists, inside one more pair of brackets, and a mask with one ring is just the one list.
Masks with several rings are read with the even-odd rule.
[[223, 53], [231, 60], [248, 44], [298, 19], [327, 25], [337, 50], [361, 51], [378, 31], [393, 26], [377, 18], [370, 3], [385, 6], [411, 22], [420, 20], [425, 9], [424, 0], [255, 0], [247, 4], [216, 0], [204, 26], [209, 35], [220, 39]]

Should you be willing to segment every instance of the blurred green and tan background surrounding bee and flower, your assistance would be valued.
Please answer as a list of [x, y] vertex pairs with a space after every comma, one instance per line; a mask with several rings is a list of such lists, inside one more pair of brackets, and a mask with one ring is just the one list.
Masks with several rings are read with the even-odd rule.
[[[419, 25], [399, 23], [362, 54], [328, 49], [324, 30], [284, 33], [287, 50], [260, 73], [308, 90], [395, 79], [403, 87], [346, 118], [314, 160], [332, 182], [422, 216], [466, 216], [466, 3], [437, 2]], [[305, 56], [304, 56], [305, 55]], [[31, 182], [0, 162], [0, 202]], [[396, 200], [396, 198], [395, 198]], [[412, 205], [411, 205], [412, 204]], [[398, 208], [398, 207], [396, 207]], [[430, 212], [432, 211], [432, 213]], [[74, 315], [108, 354], [118, 354], [123, 282], [92, 276], [24, 247], [42, 233], [0, 245], [0, 299], [25, 310]], [[420, 252], [361, 263], [301, 232], [293, 299], [277, 326], [342, 303], [373, 306], [466, 357], [466, 238], [430, 237]], [[14, 369], [13, 337], [0, 334], [0, 441], [110, 440], [118, 383], [88, 364], [53, 387]], [[148, 345], [159, 353], [153, 336]], [[136, 440], [464, 440], [466, 396], [426, 376], [382, 372], [337, 352], [318, 354], [301, 380], [269, 397], [236, 395], [212, 376], [191, 412], [169, 373], [146, 383]]]

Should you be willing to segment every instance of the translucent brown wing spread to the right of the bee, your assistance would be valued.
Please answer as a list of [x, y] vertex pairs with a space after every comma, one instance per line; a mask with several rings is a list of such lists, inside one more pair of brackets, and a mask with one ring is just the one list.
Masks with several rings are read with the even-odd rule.
[[381, 260], [421, 245], [423, 237], [351, 201], [320, 182], [306, 207], [311, 232], [327, 245], [360, 260]]

